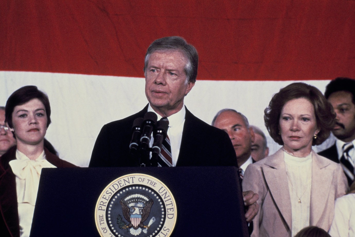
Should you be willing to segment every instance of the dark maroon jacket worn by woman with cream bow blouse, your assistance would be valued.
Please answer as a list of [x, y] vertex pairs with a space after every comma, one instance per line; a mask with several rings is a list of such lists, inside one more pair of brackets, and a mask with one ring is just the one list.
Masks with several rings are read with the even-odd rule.
[[[44, 148], [46, 159], [56, 167], [76, 167], [61, 160]], [[16, 146], [13, 146], [0, 158], [0, 233], [1, 236], [20, 236], [20, 224], [17, 210], [16, 176], [9, 162], [16, 159]]]

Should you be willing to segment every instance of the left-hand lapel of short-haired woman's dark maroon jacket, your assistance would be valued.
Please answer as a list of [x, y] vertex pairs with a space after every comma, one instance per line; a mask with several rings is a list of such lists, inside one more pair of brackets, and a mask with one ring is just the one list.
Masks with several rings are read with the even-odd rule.
[[12, 173], [9, 165], [9, 161], [14, 160], [15, 157], [16, 146], [12, 147], [5, 155], [3, 155], [3, 157], [1, 157], [1, 168], [4, 168], [4, 170], [0, 177], [0, 210], [4, 222], [11, 234], [13, 236], [19, 236], [20, 224], [18, 221], [16, 179], [15, 174]]

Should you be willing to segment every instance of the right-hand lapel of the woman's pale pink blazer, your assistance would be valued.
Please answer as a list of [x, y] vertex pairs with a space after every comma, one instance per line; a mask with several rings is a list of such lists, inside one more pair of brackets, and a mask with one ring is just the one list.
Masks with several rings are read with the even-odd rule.
[[330, 164], [329, 162], [328, 160], [321, 159], [312, 151], [311, 225], [317, 225], [323, 214], [323, 210], [326, 208], [329, 189], [332, 187], [332, 178], [329, 177], [329, 172], [326, 169]]

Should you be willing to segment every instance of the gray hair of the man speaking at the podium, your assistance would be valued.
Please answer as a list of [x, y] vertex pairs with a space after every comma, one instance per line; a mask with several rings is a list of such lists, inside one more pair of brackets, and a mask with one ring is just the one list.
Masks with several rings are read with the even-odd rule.
[[184, 54], [187, 59], [187, 64], [185, 65], [186, 74], [186, 84], [187, 82], [196, 82], [197, 77], [197, 67], [198, 67], [198, 54], [197, 50], [193, 45], [188, 44], [186, 40], [179, 36], [164, 37], [155, 40], [151, 45], [149, 45], [144, 59], [144, 75], [146, 75], [146, 70], [148, 67], [148, 60], [151, 54], [157, 50], [179, 50]]

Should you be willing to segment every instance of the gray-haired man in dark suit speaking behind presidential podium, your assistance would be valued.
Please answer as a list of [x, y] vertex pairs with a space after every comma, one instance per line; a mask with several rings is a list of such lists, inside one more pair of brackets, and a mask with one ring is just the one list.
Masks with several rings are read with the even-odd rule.
[[[184, 106], [184, 97], [195, 85], [198, 54], [181, 37], [155, 40], [144, 60], [145, 92], [149, 101], [144, 109], [130, 117], [105, 124], [92, 152], [89, 167], [130, 167], [131, 128], [136, 118], [147, 111], [158, 119], [169, 119], [171, 166], [237, 166], [235, 152], [228, 135], [195, 117]], [[258, 196], [243, 192], [249, 209], [247, 221], [256, 215]]]

